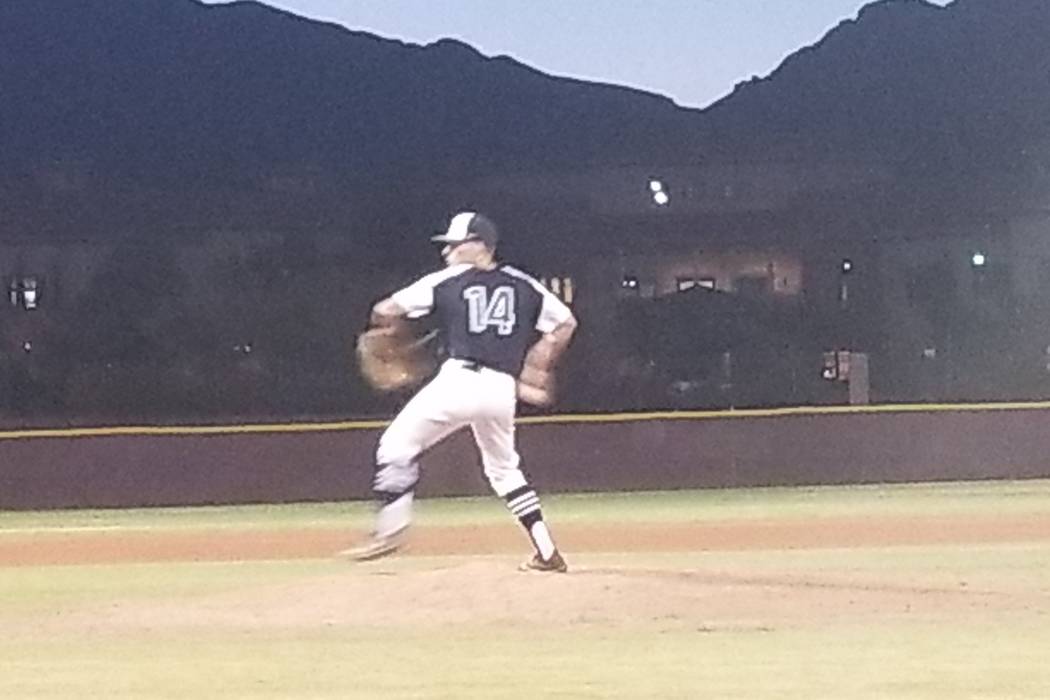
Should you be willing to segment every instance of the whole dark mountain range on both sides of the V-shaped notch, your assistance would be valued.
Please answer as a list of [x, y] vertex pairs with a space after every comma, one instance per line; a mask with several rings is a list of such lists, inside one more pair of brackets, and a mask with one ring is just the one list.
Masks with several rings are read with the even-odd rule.
[[[284, 179], [331, 203], [486, 173], [717, 161], [872, 162], [903, 189], [1016, 191], [1050, 141], [1047, 36], [1044, 0], [879, 0], [693, 110], [256, 2], [4, 0], [0, 216], [62, 215], [41, 188], [80, 193], [70, 226], [85, 212], [103, 226], [121, 211], [217, 216], [226, 193]], [[145, 194], [159, 191], [166, 204]]]

